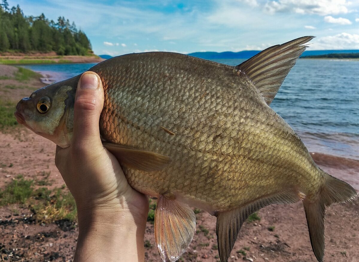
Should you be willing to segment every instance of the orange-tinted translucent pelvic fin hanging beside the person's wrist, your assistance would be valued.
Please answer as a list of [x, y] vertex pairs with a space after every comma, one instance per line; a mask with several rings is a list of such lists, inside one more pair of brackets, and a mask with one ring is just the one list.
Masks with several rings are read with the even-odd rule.
[[164, 262], [177, 261], [196, 231], [196, 216], [186, 204], [160, 196], [155, 213], [155, 238]]

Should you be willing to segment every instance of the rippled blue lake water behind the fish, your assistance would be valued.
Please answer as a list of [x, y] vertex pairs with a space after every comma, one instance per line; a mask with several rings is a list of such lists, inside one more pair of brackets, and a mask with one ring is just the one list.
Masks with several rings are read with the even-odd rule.
[[[241, 59], [220, 59], [238, 65]], [[61, 81], [94, 64], [24, 67]], [[359, 61], [299, 59], [271, 107], [298, 133], [309, 151], [359, 160]]]

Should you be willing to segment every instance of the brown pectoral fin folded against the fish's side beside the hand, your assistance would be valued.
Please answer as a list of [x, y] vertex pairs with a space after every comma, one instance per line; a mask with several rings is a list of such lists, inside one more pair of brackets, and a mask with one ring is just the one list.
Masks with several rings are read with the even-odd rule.
[[121, 164], [137, 170], [148, 172], [161, 170], [172, 161], [172, 157], [170, 156], [161, 155], [148, 150], [112, 143], [103, 143], [103, 146], [106, 147]]

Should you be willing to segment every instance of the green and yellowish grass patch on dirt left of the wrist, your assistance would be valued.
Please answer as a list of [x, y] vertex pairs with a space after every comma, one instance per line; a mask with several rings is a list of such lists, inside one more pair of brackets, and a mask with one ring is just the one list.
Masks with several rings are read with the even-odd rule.
[[0, 189], [0, 206], [25, 204], [39, 223], [51, 223], [60, 219], [77, 220], [76, 203], [70, 192], [62, 188], [50, 190], [35, 187], [34, 180], [18, 175], [5, 189]]

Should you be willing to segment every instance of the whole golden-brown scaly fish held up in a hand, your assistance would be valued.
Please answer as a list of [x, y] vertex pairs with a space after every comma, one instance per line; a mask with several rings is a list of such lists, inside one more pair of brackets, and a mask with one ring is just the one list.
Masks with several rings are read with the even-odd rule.
[[[154, 234], [163, 261], [191, 243], [191, 207], [216, 216], [228, 261], [242, 224], [271, 204], [302, 202], [314, 255], [323, 261], [325, 208], [356, 191], [320, 169], [270, 104], [313, 36], [269, 47], [237, 66], [173, 52], [126, 54], [94, 65], [103, 83], [104, 147], [137, 191], [158, 198]], [[70, 145], [81, 75], [23, 98], [15, 116], [60, 147]]]

